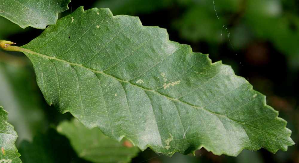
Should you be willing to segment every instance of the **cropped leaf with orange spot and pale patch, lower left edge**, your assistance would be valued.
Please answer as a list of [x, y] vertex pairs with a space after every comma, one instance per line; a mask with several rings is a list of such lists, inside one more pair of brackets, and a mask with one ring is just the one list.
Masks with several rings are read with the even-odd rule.
[[0, 162], [21, 163], [20, 154], [15, 146], [18, 135], [13, 126], [6, 122], [7, 114], [7, 111], [0, 106]]

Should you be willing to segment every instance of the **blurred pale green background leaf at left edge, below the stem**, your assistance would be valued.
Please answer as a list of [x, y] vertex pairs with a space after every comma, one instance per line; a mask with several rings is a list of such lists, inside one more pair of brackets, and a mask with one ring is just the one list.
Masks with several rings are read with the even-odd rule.
[[32, 140], [35, 132], [47, 126], [42, 97], [27, 57], [0, 52], [0, 58], [0, 104], [10, 113], [8, 122], [18, 133], [18, 146], [23, 139]]

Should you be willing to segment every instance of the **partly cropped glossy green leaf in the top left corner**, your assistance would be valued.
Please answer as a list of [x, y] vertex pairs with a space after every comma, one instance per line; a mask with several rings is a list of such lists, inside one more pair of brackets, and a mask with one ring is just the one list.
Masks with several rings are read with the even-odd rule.
[[70, 0], [5, 0], [0, 5], [0, 15], [22, 28], [45, 29], [58, 19], [58, 13], [68, 10]]

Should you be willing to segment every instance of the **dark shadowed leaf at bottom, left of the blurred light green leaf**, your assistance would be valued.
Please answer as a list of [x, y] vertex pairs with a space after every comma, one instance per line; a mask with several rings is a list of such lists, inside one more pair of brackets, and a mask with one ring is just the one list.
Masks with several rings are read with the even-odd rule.
[[68, 139], [55, 129], [36, 135], [32, 143], [22, 141], [19, 151], [24, 163], [88, 163], [78, 158]]

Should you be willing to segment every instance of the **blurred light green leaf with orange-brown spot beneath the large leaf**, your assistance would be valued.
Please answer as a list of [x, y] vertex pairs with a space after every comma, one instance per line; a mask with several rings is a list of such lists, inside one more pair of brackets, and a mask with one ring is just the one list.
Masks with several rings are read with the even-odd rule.
[[139, 152], [128, 140], [120, 143], [103, 135], [99, 129], [87, 129], [75, 119], [60, 123], [57, 131], [70, 140], [79, 157], [91, 162], [130, 162]]

